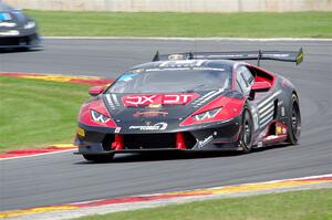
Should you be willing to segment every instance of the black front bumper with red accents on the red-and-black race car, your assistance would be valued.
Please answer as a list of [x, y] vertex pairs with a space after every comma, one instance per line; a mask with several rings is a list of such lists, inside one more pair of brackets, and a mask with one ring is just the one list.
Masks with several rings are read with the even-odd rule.
[[[115, 134], [114, 128], [92, 127], [83, 124], [76, 134], [76, 154], [145, 153], [159, 150], [211, 151], [238, 149], [240, 118], [191, 126], [163, 133]], [[121, 138], [121, 146], [117, 146]]]

